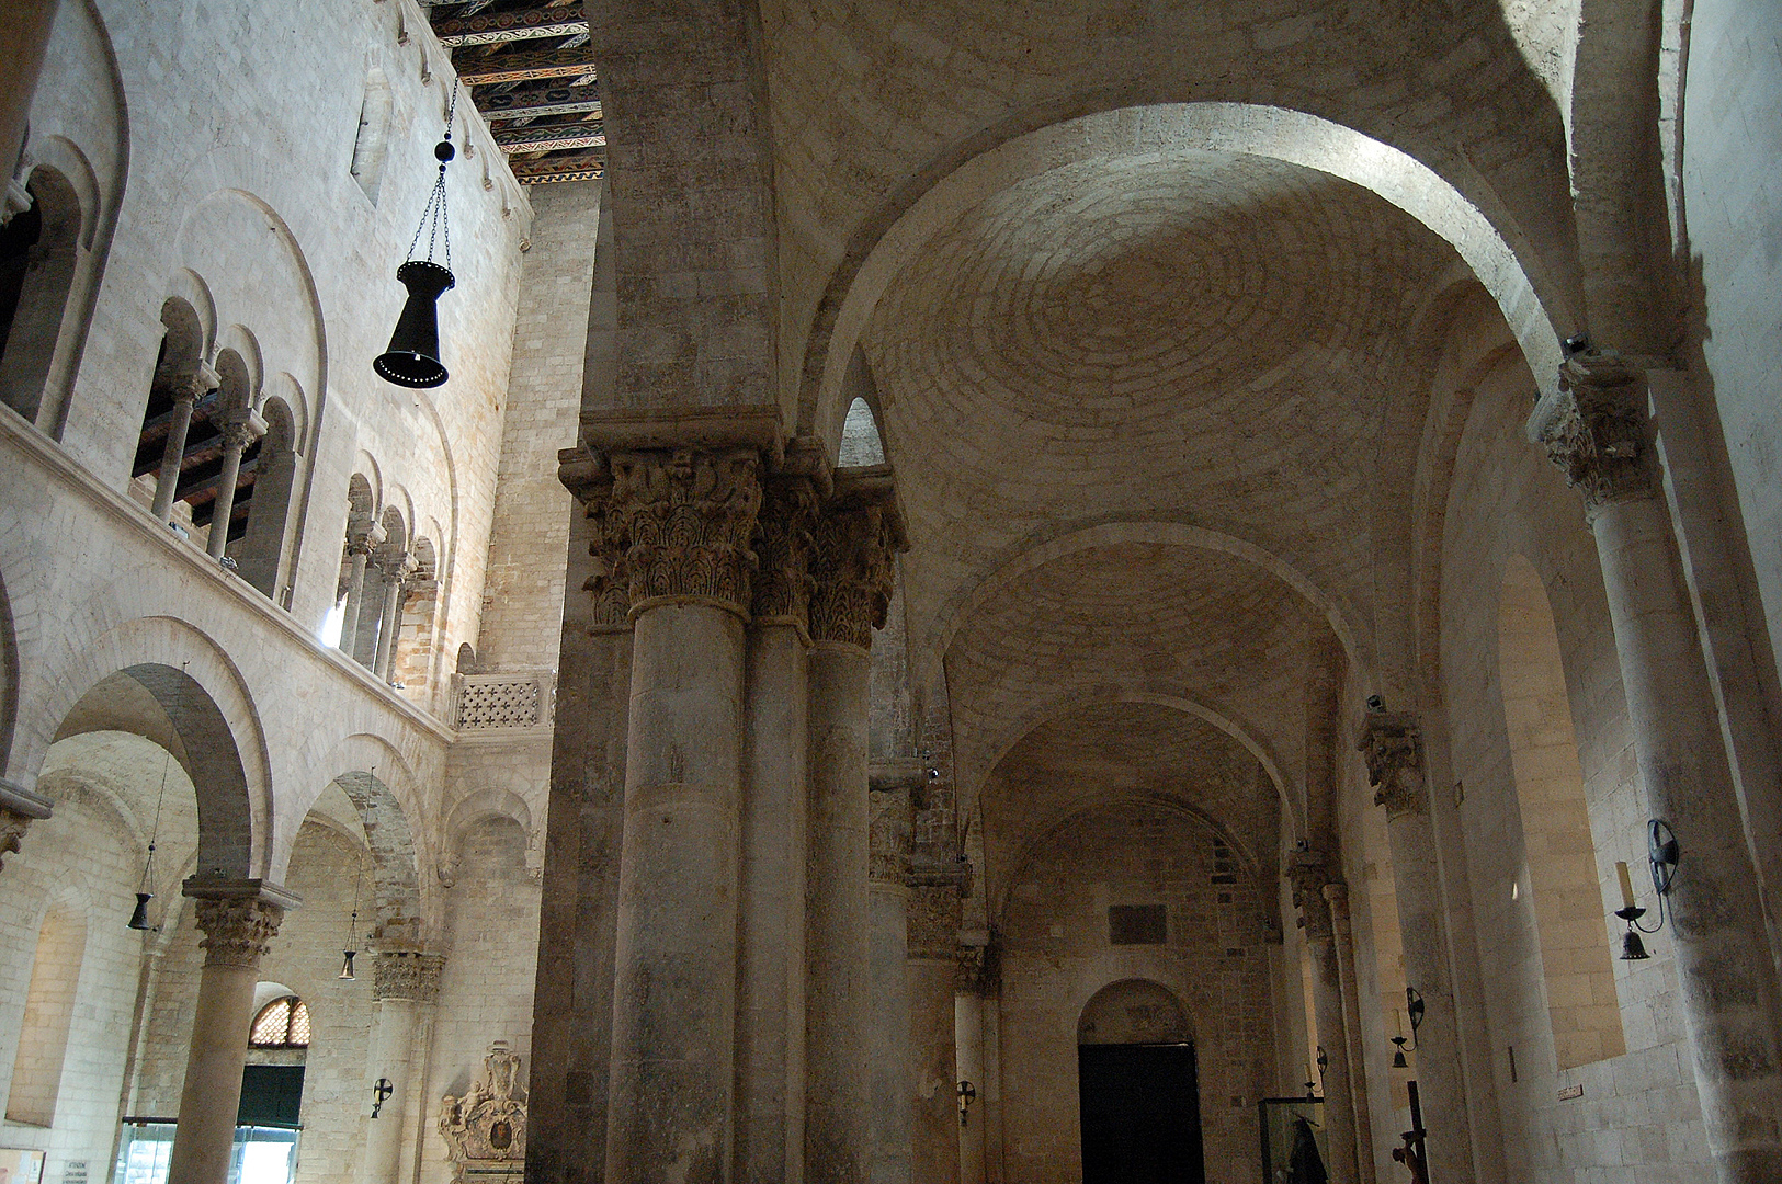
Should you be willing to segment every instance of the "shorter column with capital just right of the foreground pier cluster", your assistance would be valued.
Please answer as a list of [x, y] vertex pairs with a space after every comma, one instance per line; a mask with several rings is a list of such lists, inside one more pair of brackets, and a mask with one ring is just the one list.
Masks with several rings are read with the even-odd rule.
[[909, 883], [909, 1047], [916, 1093], [911, 1168], [918, 1184], [959, 1184], [955, 997], [964, 865], [918, 858]]

